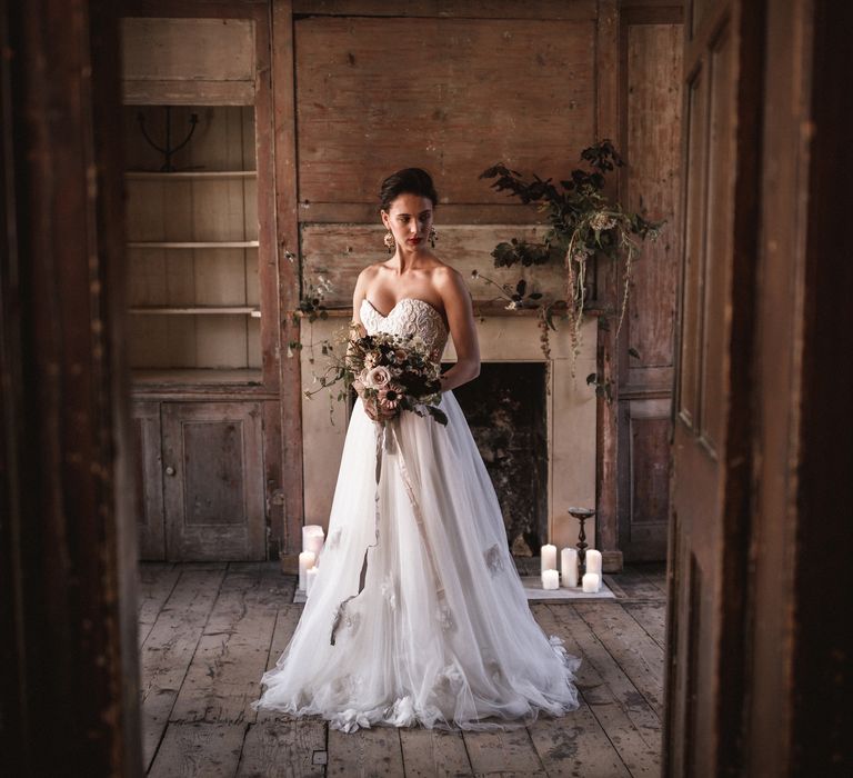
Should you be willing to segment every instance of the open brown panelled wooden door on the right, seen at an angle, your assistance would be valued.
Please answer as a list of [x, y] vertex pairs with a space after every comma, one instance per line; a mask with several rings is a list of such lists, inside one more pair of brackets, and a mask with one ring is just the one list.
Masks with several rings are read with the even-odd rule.
[[761, 3], [685, 17], [666, 775], [740, 762]]

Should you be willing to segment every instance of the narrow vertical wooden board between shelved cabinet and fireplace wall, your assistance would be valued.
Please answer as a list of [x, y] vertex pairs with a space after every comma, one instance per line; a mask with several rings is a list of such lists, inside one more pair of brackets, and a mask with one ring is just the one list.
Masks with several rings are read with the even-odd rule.
[[297, 352], [287, 357], [288, 342], [300, 339], [289, 312], [299, 307], [301, 256], [298, 221], [297, 106], [290, 0], [272, 1], [272, 138], [275, 166], [275, 247], [279, 271], [279, 368], [281, 388], [281, 446], [284, 496], [282, 561], [295, 566], [302, 550], [302, 376]]

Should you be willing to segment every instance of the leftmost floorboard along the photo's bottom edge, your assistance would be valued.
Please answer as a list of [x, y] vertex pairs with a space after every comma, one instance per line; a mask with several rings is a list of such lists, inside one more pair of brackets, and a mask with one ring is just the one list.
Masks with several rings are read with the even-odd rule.
[[149, 778], [232, 778], [244, 735], [243, 724], [172, 722]]

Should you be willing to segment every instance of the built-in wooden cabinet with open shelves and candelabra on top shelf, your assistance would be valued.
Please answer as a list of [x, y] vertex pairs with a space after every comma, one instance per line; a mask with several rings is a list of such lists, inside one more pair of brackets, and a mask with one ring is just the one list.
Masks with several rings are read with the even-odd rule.
[[267, 30], [163, 17], [123, 33], [140, 556], [265, 559], [283, 526]]

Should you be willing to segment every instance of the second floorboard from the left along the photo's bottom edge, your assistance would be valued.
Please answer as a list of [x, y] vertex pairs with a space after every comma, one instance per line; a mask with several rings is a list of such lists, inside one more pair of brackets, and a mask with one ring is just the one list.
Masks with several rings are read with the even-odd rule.
[[237, 776], [319, 778], [325, 762], [325, 724], [279, 716], [249, 725]]

